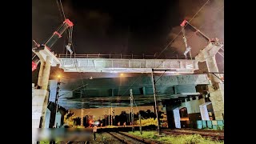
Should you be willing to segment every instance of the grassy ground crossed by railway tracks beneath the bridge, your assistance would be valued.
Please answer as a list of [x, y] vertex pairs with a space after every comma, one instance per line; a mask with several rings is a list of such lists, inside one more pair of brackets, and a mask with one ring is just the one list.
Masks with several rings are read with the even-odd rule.
[[198, 144], [222, 144], [224, 143], [223, 131], [217, 130], [162, 130], [162, 134], [157, 136], [157, 131], [146, 130], [133, 132], [102, 132], [96, 134], [94, 140], [93, 134], [88, 135], [74, 135], [74, 142], [57, 142], [58, 144], [71, 144], [71, 143], [102, 143], [102, 144], [118, 144], [118, 143], [198, 143]]

